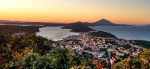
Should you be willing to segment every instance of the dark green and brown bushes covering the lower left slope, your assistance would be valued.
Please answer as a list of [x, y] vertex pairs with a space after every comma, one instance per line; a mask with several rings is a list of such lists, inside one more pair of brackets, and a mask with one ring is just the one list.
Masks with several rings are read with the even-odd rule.
[[69, 69], [88, 63], [87, 56], [85, 53], [80, 58], [73, 50], [62, 49], [57, 43], [40, 36], [0, 34], [0, 68]]

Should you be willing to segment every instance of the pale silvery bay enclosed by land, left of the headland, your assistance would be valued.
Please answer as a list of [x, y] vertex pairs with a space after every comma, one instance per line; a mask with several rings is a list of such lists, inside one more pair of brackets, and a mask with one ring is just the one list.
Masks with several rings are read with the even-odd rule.
[[36, 33], [38, 36], [43, 36], [54, 41], [61, 40], [66, 36], [78, 35], [79, 33], [70, 32], [70, 29], [61, 29], [61, 26], [57, 27], [43, 27], [40, 28], [40, 32]]

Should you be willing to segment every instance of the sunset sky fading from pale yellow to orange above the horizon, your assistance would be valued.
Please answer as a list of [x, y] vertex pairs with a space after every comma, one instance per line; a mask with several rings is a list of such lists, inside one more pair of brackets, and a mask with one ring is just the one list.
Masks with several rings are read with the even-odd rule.
[[150, 24], [150, 0], [0, 0], [0, 20]]

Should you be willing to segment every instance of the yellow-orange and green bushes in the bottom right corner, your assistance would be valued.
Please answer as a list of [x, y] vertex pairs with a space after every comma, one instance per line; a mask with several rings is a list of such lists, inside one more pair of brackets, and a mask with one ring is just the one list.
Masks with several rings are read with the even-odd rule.
[[115, 69], [149, 69], [150, 50], [144, 50], [140, 56], [129, 57], [114, 65]]

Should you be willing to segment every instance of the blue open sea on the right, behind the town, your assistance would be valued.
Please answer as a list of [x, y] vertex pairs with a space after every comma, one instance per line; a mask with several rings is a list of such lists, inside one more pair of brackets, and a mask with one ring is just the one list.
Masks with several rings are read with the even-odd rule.
[[127, 40], [148, 40], [150, 41], [150, 27], [144, 26], [95, 26], [95, 30], [105, 31], [114, 34], [118, 38]]

